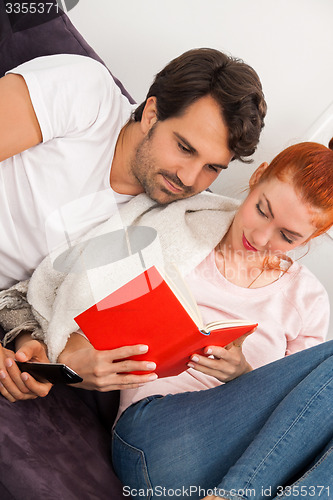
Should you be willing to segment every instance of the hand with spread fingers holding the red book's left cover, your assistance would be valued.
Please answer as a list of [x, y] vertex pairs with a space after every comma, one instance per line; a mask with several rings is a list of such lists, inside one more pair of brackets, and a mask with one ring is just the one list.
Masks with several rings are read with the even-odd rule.
[[[75, 387], [100, 392], [133, 389], [157, 378], [156, 374], [151, 373], [156, 368], [155, 363], [126, 359], [147, 351], [148, 347], [142, 345], [97, 351], [87, 339], [73, 333], [58, 361], [68, 365], [83, 378], [83, 382], [75, 384]], [[126, 373], [132, 371], [143, 373], [142, 375]], [[150, 373], [145, 374], [145, 371]]]

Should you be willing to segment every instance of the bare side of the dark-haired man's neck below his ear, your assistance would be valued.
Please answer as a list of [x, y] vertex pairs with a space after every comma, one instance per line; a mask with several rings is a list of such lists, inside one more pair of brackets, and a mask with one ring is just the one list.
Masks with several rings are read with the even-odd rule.
[[131, 164], [141, 140], [138, 122], [128, 122], [119, 133], [110, 172], [110, 186], [117, 193], [137, 195], [144, 191], [131, 172]]

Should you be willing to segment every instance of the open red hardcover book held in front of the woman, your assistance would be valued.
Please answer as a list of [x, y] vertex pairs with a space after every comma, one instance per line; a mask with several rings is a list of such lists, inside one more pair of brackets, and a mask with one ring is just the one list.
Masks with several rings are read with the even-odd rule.
[[185, 282], [176, 273], [172, 279], [153, 266], [75, 321], [98, 350], [148, 345], [147, 353], [131, 359], [154, 361], [159, 377], [178, 375], [188, 368], [193, 353], [207, 345], [226, 346], [257, 327], [243, 320], [204, 325]]

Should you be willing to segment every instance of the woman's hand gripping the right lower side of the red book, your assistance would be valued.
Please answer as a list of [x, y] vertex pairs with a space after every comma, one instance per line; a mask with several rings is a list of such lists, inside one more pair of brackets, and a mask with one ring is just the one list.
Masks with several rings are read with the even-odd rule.
[[194, 354], [188, 363], [190, 368], [211, 375], [220, 382], [230, 382], [234, 378], [252, 370], [242, 351], [245, 336], [240, 337], [226, 347], [208, 346], [204, 353], [214, 358]]

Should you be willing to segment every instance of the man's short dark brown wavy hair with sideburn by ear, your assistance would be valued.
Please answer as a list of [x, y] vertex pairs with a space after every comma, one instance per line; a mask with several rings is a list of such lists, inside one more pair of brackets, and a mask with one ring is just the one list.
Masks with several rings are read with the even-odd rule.
[[[229, 130], [233, 159], [249, 163], [264, 126], [266, 102], [257, 73], [240, 59], [209, 49], [193, 49], [173, 59], [151, 85], [146, 101], [155, 96], [157, 118], [181, 116], [196, 100], [211, 95]], [[140, 121], [144, 101], [134, 112]]]

